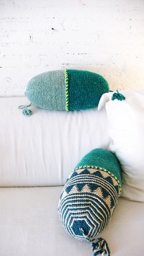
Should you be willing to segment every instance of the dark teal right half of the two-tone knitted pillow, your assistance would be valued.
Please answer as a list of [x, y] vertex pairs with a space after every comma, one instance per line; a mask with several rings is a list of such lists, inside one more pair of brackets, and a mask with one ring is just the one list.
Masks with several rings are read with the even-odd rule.
[[103, 93], [109, 92], [109, 84], [103, 76], [85, 70], [67, 71], [69, 110], [95, 108]]

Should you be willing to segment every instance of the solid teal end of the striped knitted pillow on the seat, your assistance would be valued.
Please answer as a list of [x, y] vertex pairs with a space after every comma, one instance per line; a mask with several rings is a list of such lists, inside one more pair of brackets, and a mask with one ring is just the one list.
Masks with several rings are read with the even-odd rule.
[[[107, 149], [95, 148], [81, 159], [76, 168], [80, 166], [97, 166], [109, 171], [121, 182], [121, 167], [117, 157]], [[76, 169], [75, 168], [75, 169]]]

